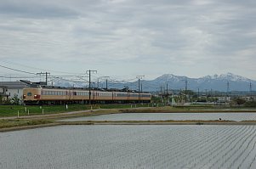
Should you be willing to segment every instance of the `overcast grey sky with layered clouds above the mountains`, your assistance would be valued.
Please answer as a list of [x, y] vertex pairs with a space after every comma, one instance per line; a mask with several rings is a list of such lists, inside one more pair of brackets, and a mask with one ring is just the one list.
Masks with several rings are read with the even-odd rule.
[[231, 72], [256, 80], [256, 1], [1, 0], [0, 65], [51, 75]]

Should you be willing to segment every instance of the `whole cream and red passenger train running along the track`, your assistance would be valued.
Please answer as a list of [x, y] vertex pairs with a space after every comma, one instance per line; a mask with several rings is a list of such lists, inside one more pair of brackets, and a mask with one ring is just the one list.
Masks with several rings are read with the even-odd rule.
[[151, 93], [100, 91], [68, 88], [28, 87], [23, 89], [25, 104], [150, 103]]

